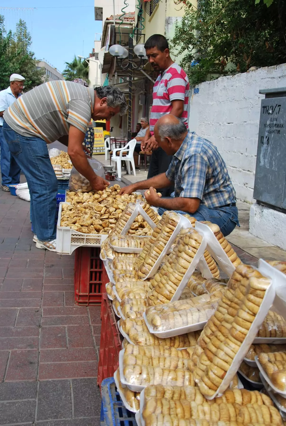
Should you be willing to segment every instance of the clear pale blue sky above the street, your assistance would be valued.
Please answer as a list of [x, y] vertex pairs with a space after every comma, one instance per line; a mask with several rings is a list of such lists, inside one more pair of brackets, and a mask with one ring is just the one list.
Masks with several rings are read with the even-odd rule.
[[95, 33], [102, 32], [102, 21], [94, 20], [94, 0], [3, 0], [1, 3], [0, 14], [5, 17], [6, 29], [14, 30], [20, 18], [25, 20], [36, 58], [45, 58], [60, 72], [74, 55], [87, 58], [94, 47]]

